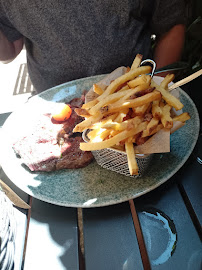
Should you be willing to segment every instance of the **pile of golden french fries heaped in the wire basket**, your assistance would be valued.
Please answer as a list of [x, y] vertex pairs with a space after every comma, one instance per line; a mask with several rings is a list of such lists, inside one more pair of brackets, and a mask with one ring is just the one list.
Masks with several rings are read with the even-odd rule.
[[125, 151], [131, 175], [138, 175], [134, 145], [145, 143], [161, 129], [170, 130], [174, 121], [184, 123], [190, 119], [186, 112], [172, 116], [172, 108], [183, 108], [180, 100], [168, 91], [174, 75], [167, 75], [158, 85], [148, 75], [151, 67], [140, 66], [141, 60], [142, 55], [138, 54], [127, 72], [105, 89], [93, 85], [97, 98], [76, 109], [85, 120], [73, 130], [90, 130], [89, 142], [80, 144], [83, 151], [111, 147]]

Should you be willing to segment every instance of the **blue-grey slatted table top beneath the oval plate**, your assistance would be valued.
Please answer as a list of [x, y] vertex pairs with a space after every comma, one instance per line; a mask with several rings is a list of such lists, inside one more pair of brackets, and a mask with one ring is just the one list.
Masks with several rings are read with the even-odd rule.
[[[186, 86], [201, 118], [201, 79]], [[2, 114], [3, 125], [9, 114]], [[184, 166], [137, 199], [69, 208], [32, 198], [3, 169], [0, 178], [31, 205], [15, 207], [14, 269], [202, 269], [202, 133]]]

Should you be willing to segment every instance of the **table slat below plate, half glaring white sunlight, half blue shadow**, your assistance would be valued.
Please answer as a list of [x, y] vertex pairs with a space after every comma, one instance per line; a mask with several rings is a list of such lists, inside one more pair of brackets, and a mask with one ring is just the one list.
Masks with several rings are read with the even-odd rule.
[[33, 198], [24, 270], [79, 269], [77, 213]]

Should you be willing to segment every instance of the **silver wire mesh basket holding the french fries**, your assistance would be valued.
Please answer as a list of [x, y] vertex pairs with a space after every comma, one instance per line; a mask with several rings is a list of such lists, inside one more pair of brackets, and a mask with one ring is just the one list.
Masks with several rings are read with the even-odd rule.
[[[87, 136], [88, 131], [89, 130], [85, 130], [82, 134], [83, 140], [85, 142], [89, 142]], [[152, 158], [152, 154], [150, 155], [137, 154], [136, 160], [139, 168], [139, 173], [138, 175], [131, 176], [128, 168], [128, 160], [126, 152], [113, 148], [106, 148], [102, 150], [92, 151], [92, 154], [98, 165], [100, 165], [102, 168], [135, 178], [141, 177], [145, 173]]]

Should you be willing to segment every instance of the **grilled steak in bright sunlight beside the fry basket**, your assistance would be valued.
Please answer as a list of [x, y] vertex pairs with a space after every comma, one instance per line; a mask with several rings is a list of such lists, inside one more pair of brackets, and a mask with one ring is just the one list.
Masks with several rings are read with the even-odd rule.
[[53, 121], [51, 114], [41, 115], [33, 132], [19, 139], [13, 149], [31, 171], [54, 171], [60, 169], [76, 169], [87, 166], [92, 160], [91, 152], [80, 150], [81, 134], [73, 134], [76, 124], [83, 120], [74, 112], [83, 104], [81, 99], [70, 102], [72, 114], [70, 118], [58, 123]]

